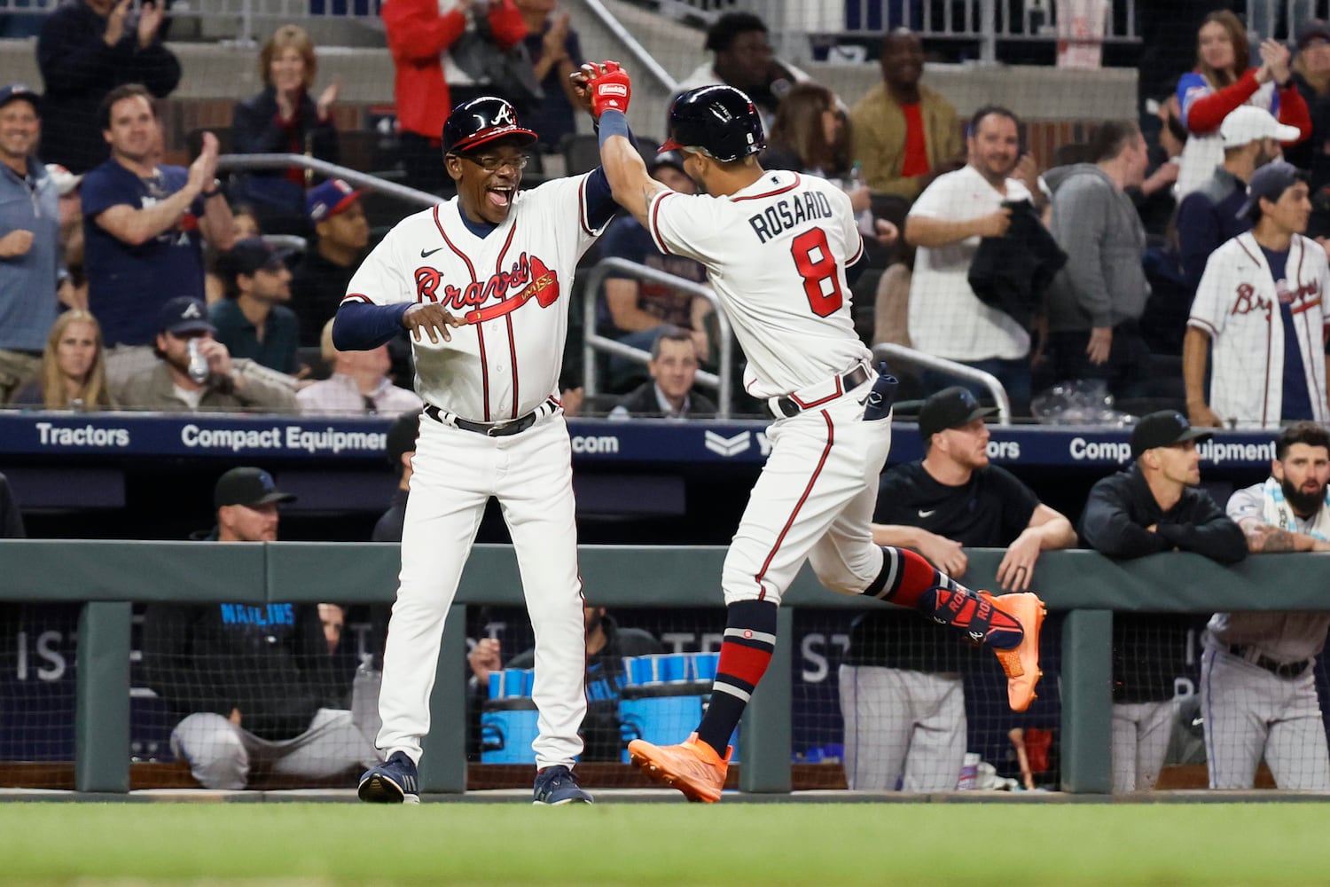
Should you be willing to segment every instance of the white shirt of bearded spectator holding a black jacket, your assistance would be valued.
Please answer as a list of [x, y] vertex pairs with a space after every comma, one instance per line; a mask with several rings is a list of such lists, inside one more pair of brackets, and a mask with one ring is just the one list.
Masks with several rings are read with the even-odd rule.
[[[1001, 209], [1003, 201], [1028, 201], [1029, 189], [1007, 180], [1007, 193], [974, 166], [939, 176], [910, 207], [910, 215], [964, 221]], [[1009, 314], [984, 305], [970, 286], [970, 265], [979, 237], [934, 249], [920, 246], [910, 281], [910, 342], [951, 360], [1015, 360], [1029, 352], [1029, 332]]]

